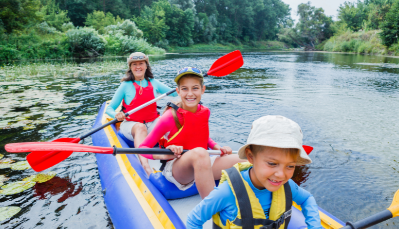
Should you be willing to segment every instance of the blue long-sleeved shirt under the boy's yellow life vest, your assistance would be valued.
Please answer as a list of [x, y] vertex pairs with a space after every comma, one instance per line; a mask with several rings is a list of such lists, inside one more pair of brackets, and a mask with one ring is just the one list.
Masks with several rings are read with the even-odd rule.
[[[251, 167], [252, 168], [252, 167]], [[259, 190], [255, 188], [249, 178], [249, 168], [241, 174], [255, 192], [266, 218], [269, 218], [272, 192], [267, 189]], [[292, 191], [292, 200], [301, 205], [305, 216], [305, 223], [308, 229], [323, 229], [320, 221], [319, 209], [312, 194], [299, 187], [293, 180], [289, 180]], [[226, 221], [233, 221], [237, 217], [237, 206], [233, 192], [228, 182], [223, 182], [219, 187], [215, 187], [205, 199], [203, 199], [187, 216], [187, 229], [202, 229], [202, 225], [207, 222], [212, 215], [220, 212], [220, 219], [226, 225]]]

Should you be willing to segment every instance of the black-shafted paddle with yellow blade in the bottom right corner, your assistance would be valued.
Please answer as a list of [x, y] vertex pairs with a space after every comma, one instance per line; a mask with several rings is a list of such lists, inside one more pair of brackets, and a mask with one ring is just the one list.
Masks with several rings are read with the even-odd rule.
[[356, 223], [346, 222], [346, 226], [341, 229], [364, 229], [397, 216], [399, 216], [399, 190], [395, 192], [394, 199], [389, 208], [359, 220]]

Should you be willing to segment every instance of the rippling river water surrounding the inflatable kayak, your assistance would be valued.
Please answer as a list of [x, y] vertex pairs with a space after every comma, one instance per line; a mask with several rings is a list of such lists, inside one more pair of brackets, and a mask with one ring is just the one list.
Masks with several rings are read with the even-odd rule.
[[[180, 68], [206, 71], [224, 54], [167, 54], [150, 61], [154, 76], [172, 87]], [[284, 115], [302, 127], [304, 144], [314, 147], [313, 163], [296, 168], [293, 179], [320, 207], [344, 222], [386, 209], [399, 189], [399, 58], [256, 51], [243, 57], [244, 66], [233, 74], [205, 80], [210, 136], [237, 150], [253, 120]], [[104, 59], [81, 61], [87, 66]], [[89, 132], [98, 105], [112, 98], [123, 74], [118, 67], [95, 76], [44, 74], [15, 81], [0, 76], [2, 159], [23, 161], [27, 155], [5, 152], [7, 143]], [[91, 138], [84, 144], [91, 145]], [[0, 194], [0, 207], [22, 209], [0, 221], [1, 228], [112, 228], [94, 153], [73, 153], [48, 171], [57, 175], [21, 193]], [[1, 174], [9, 178], [6, 184], [35, 172], [4, 168]], [[391, 219], [373, 228], [398, 225]]]

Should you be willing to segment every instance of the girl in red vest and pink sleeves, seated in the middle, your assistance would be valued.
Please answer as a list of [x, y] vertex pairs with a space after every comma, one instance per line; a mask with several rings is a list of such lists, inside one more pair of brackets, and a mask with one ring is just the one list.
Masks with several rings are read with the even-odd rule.
[[[222, 170], [244, 160], [238, 155], [229, 155], [232, 153], [230, 147], [220, 147], [209, 137], [210, 111], [200, 104], [205, 93], [202, 72], [194, 67], [182, 68], [174, 81], [182, 101], [177, 105], [170, 104], [171, 108], [165, 111], [139, 148], [152, 148], [159, 142], [170, 149], [174, 155], [142, 156], [168, 160], [161, 167], [165, 178], [183, 191], [195, 180], [199, 194], [205, 198], [215, 187], [215, 179], [220, 179]], [[224, 155], [209, 157], [208, 147], [221, 150]], [[190, 151], [180, 155], [183, 149]]]

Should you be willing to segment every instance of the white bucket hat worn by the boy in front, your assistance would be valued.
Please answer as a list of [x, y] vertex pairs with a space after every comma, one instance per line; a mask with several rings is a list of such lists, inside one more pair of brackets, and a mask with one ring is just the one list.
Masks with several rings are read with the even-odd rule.
[[293, 148], [300, 151], [296, 165], [310, 164], [312, 160], [302, 146], [303, 136], [301, 127], [291, 119], [280, 115], [263, 116], [252, 123], [247, 144], [238, 150], [238, 156], [247, 159], [245, 149], [249, 145]]

